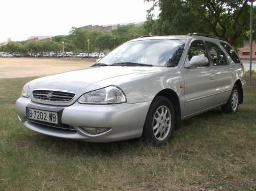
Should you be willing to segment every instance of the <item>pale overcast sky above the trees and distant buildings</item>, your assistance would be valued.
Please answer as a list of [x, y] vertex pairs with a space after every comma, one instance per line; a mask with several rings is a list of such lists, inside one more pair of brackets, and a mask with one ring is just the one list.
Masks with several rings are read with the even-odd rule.
[[1, 0], [0, 43], [68, 35], [71, 27], [88, 24], [141, 22], [150, 7], [152, 3], [143, 0]]

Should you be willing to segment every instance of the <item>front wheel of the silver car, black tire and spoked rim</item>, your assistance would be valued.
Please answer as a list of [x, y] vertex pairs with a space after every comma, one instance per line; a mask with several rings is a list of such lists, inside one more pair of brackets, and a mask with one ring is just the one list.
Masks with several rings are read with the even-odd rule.
[[170, 100], [156, 96], [147, 112], [143, 139], [155, 146], [162, 146], [171, 137], [175, 125], [175, 110]]

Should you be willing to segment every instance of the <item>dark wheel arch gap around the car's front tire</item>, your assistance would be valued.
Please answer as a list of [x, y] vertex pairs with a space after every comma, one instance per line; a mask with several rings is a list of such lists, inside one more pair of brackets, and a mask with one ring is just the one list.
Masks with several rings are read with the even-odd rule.
[[[164, 90], [161, 90], [158, 92], [156, 96], [164, 96], [168, 100], [171, 101], [172, 105], [174, 106], [175, 110], [175, 129], [181, 128], [181, 110], [180, 110], [180, 99], [179, 96], [176, 94], [174, 90], [171, 90], [169, 88], [166, 88]], [[154, 99], [155, 99], [154, 97]]]

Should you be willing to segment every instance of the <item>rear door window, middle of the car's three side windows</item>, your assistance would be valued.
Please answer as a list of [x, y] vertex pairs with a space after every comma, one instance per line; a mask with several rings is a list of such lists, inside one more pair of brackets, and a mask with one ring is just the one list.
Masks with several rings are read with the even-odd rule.
[[213, 65], [219, 66], [219, 65], [227, 65], [228, 62], [226, 61], [226, 55], [221, 50], [220, 46], [218, 46], [215, 43], [206, 42], [210, 54], [210, 58], [212, 58]]

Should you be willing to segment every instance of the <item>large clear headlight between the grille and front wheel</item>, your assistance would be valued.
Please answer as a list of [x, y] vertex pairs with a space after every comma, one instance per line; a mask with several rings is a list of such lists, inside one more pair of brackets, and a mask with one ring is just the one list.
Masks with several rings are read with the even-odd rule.
[[125, 103], [125, 94], [118, 87], [109, 86], [100, 90], [82, 95], [78, 100], [80, 104], [119, 104]]

